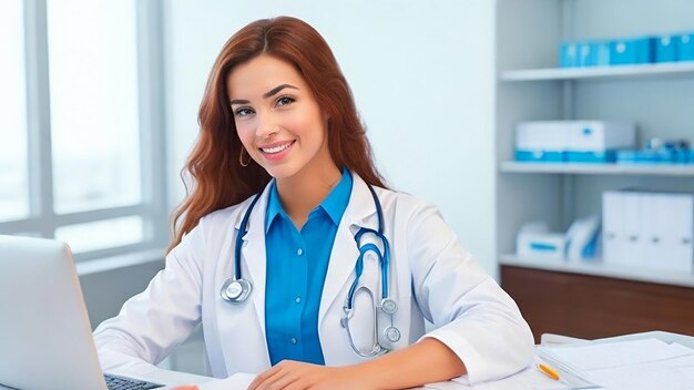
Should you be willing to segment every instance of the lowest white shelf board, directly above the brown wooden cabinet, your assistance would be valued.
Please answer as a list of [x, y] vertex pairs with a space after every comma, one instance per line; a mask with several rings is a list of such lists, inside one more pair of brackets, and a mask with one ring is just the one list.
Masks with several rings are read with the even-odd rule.
[[671, 286], [694, 287], [694, 275], [659, 269], [615, 267], [601, 260], [570, 261], [538, 258], [522, 258], [518, 255], [501, 255], [502, 266], [517, 266], [534, 269], [553, 270], [570, 274], [603, 276], [618, 279], [656, 283]]

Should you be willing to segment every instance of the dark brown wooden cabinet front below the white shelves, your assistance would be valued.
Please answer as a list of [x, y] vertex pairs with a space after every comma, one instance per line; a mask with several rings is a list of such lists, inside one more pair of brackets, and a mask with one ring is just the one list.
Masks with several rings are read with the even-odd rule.
[[516, 299], [535, 337], [544, 332], [602, 338], [666, 330], [694, 336], [694, 288], [501, 267], [501, 287]]

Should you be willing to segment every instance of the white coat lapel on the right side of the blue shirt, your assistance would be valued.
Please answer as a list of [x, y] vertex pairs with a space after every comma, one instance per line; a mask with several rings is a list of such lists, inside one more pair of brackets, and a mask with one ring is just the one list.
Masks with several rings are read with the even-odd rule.
[[[359, 249], [355, 242], [355, 234], [363, 226], [376, 227], [376, 206], [374, 198], [366, 183], [356, 173], [351, 173], [353, 186], [349, 196], [349, 204], [345, 209], [343, 219], [335, 235], [335, 243], [330, 253], [328, 270], [323, 286], [323, 296], [318, 311], [318, 328], [325, 318], [328, 309], [336, 299], [345, 299], [339, 292], [345, 285], [351, 283], [349, 276], [355, 269], [355, 263], [359, 256]], [[371, 218], [372, 216], [372, 218]], [[371, 220], [372, 219], [372, 220]], [[343, 302], [340, 301], [341, 306]]]

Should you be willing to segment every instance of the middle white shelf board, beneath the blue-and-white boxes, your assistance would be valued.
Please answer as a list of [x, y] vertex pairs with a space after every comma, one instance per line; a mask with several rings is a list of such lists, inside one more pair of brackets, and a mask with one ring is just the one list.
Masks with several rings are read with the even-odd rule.
[[653, 175], [694, 176], [694, 164], [639, 165], [639, 164], [578, 164], [578, 163], [519, 163], [507, 161], [500, 166], [506, 173], [549, 173], [579, 175]]

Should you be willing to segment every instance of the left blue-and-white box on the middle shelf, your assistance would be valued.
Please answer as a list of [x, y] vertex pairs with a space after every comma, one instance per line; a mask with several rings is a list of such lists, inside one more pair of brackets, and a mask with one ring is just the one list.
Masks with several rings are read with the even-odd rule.
[[561, 121], [521, 122], [516, 126], [516, 160], [562, 163], [569, 147], [569, 132]]

